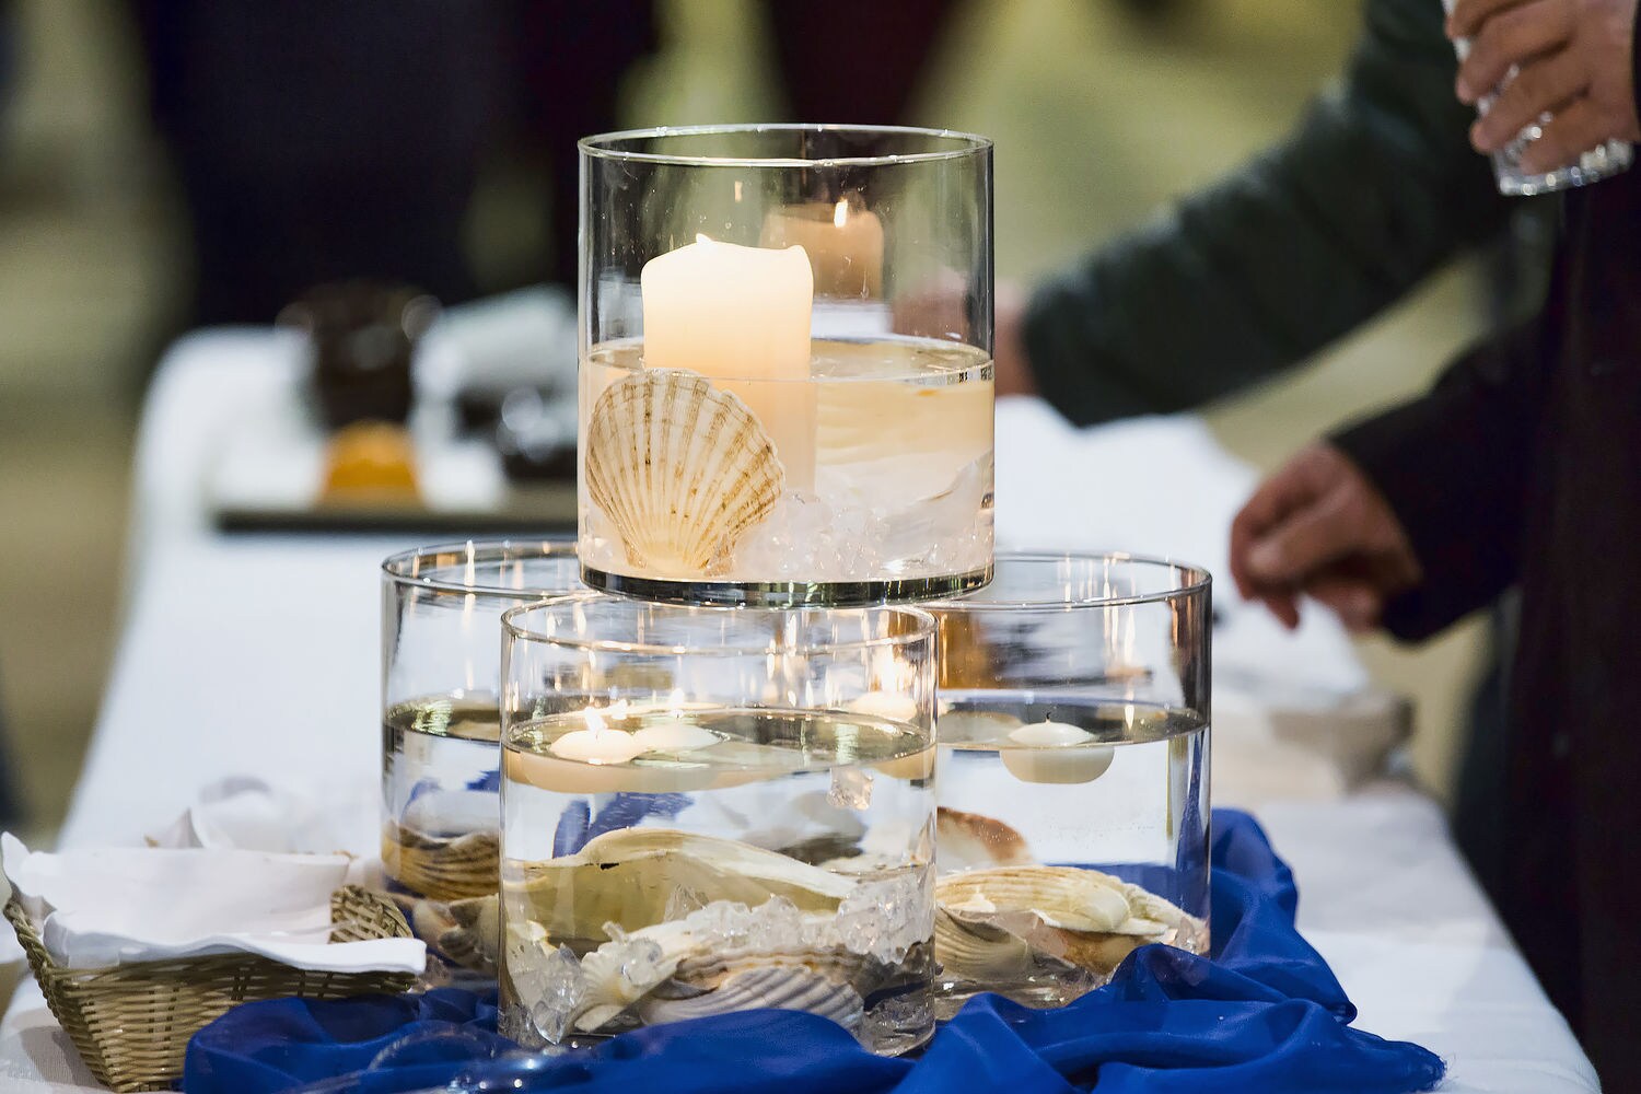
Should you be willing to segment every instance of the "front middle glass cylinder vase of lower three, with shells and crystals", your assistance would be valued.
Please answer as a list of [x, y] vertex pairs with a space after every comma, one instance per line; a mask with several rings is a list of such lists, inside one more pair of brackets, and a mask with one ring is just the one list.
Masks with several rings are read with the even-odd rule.
[[927, 613], [573, 594], [504, 625], [507, 1037], [778, 1007], [929, 1038]]

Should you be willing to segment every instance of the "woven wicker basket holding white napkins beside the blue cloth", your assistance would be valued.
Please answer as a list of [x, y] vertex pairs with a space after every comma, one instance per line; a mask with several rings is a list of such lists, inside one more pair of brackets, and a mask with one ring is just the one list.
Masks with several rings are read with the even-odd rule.
[[[113, 1091], [166, 1091], [182, 1074], [189, 1038], [230, 1007], [253, 999], [341, 999], [407, 991], [407, 973], [310, 973], [249, 953], [143, 961], [105, 969], [59, 968], [13, 897], [5, 917], [28, 966], [80, 1060]], [[330, 899], [331, 941], [409, 938], [404, 915], [358, 887]]]

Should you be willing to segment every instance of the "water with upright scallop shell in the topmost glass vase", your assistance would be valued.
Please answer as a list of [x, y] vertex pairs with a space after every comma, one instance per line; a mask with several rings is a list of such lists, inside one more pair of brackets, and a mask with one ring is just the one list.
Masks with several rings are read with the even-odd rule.
[[[589, 584], [683, 600], [847, 604], [945, 595], [990, 576], [983, 351], [817, 338], [804, 382], [645, 371], [642, 358], [643, 344], [625, 341], [583, 362]], [[656, 428], [663, 422], [681, 425]], [[812, 438], [812, 451], [781, 451], [776, 436], [788, 448]]]

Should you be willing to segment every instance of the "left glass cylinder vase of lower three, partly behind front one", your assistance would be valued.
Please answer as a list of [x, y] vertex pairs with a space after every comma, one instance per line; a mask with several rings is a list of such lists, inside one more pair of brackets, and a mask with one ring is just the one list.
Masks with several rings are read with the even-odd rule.
[[569, 540], [382, 563], [382, 871], [435, 982], [496, 979], [502, 612], [581, 589], [579, 572]]

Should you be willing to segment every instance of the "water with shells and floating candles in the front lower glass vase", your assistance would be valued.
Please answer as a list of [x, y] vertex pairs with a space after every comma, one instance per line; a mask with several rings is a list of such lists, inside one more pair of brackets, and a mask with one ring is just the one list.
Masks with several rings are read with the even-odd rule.
[[568, 1043], [727, 1010], [934, 1030], [934, 750], [848, 712], [553, 715], [502, 759], [502, 1032]]

